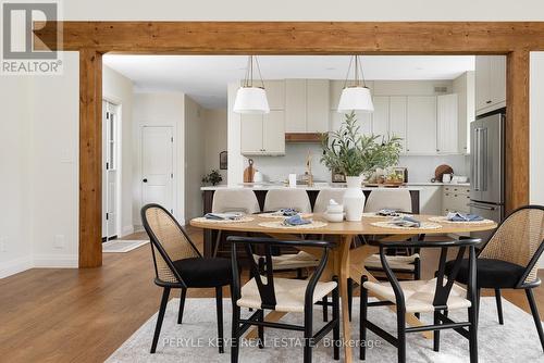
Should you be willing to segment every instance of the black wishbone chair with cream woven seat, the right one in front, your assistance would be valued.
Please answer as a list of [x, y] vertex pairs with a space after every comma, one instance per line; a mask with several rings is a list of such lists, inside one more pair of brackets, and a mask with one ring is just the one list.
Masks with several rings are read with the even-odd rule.
[[[406, 362], [406, 334], [433, 330], [434, 350], [440, 350], [440, 331], [442, 329], [454, 329], [469, 340], [470, 362], [478, 362], [478, 299], [477, 299], [477, 268], [475, 246], [480, 239], [460, 239], [449, 241], [406, 241], [385, 242], [379, 241], [380, 259], [383, 264], [387, 283], [369, 281], [367, 276], [361, 278], [360, 300], [360, 359], [366, 359], [367, 329], [373, 331], [387, 342], [397, 348], [398, 362]], [[436, 277], [431, 280], [405, 280], [399, 281], [387, 261], [386, 250], [406, 248], [440, 248], [438, 271]], [[458, 249], [450, 271], [450, 278], [445, 277], [446, 258], [449, 249]], [[461, 267], [465, 253], [469, 252], [468, 263], [468, 287], [463, 289], [455, 284], [455, 277]], [[380, 301], [369, 302], [369, 291], [379, 297]], [[385, 331], [375, 323], [368, 320], [368, 308], [396, 305], [397, 336]], [[454, 322], [448, 317], [452, 310], [468, 310], [468, 321]], [[406, 326], [407, 313], [433, 313], [433, 324], [422, 326]]]

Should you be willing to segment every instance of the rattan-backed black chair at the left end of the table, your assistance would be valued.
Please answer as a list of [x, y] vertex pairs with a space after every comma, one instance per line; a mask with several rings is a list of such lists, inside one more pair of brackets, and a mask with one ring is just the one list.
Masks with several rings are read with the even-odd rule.
[[151, 240], [154, 284], [163, 288], [159, 316], [154, 328], [151, 353], [157, 350], [162, 321], [171, 289], [181, 289], [177, 324], [182, 324], [188, 288], [215, 288], [219, 352], [224, 352], [223, 286], [231, 285], [231, 260], [202, 258], [187, 233], [172, 214], [159, 204], [141, 209], [144, 228]]

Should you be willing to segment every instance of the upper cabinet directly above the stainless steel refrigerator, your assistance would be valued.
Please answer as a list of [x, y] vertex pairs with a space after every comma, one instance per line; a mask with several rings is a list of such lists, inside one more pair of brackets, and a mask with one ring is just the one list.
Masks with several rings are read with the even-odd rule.
[[481, 115], [504, 107], [506, 107], [506, 57], [477, 55], [477, 115]]

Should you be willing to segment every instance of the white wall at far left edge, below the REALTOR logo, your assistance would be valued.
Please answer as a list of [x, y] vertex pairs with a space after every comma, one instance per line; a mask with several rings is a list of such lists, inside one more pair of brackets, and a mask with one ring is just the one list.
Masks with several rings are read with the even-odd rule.
[[0, 278], [33, 266], [30, 79], [0, 76]]

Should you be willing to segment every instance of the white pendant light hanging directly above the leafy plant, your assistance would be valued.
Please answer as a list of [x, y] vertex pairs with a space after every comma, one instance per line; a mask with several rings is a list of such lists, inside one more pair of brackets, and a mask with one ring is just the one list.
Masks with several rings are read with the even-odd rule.
[[[348, 84], [349, 71], [354, 65], [355, 60], [355, 80]], [[349, 67], [347, 68], [346, 82], [338, 102], [338, 112], [348, 113], [355, 112], [374, 112], [374, 104], [372, 103], [372, 95], [370, 89], [364, 85], [364, 76], [362, 74], [362, 66], [359, 55], [351, 57]]]

